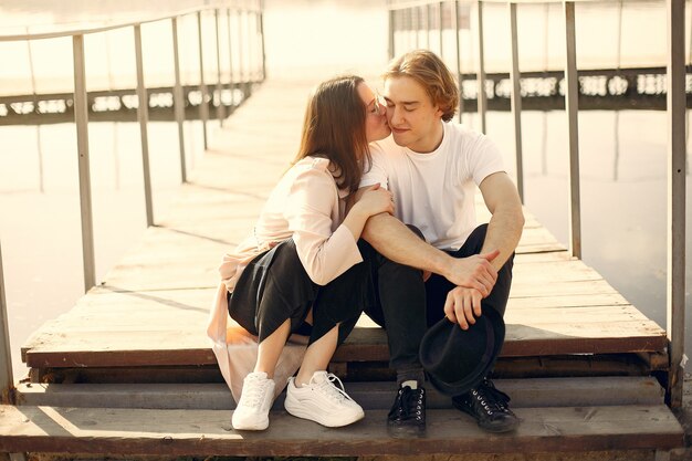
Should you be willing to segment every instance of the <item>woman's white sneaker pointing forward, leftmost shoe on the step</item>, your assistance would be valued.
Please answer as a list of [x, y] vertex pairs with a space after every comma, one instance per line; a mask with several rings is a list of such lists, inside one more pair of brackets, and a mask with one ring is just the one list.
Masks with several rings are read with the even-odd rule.
[[266, 373], [251, 373], [243, 379], [243, 391], [231, 423], [238, 430], [264, 430], [269, 427], [269, 409], [274, 400], [274, 380]]

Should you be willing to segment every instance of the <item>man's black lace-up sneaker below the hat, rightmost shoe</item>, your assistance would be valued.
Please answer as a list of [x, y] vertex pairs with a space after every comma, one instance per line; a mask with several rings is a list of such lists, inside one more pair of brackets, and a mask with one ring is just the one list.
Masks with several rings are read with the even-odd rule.
[[452, 397], [454, 408], [471, 415], [489, 432], [508, 432], [518, 427], [518, 418], [507, 407], [508, 402], [510, 396], [497, 390], [487, 378], [466, 394]]

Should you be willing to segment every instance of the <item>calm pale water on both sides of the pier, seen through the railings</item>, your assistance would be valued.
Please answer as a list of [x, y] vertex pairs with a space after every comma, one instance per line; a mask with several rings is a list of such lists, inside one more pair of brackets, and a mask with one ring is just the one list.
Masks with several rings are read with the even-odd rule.
[[[22, 21], [46, 24], [105, 18], [123, 4], [126, 8], [122, 10], [141, 11], [136, 2], [130, 3], [104, 1], [94, 7], [93, 2], [73, 1], [71, 4], [74, 8], [61, 9], [59, 7], [64, 3], [57, 1], [34, 0], [18, 6], [0, 0], [0, 32], [8, 24], [17, 27]], [[195, 3], [198, 2], [179, 1], [176, 8]], [[265, 30], [270, 75], [300, 75], [315, 82], [337, 72], [376, 75], [384, 67], [387, 56], [387, 22], [382, 6], [384, 1], [355, 1], [338, 6], [331, 1], [268, 1]], [[145, 12], [147, 8], [150, 11], [157, 7], [144, 7]], [[521, 48], [522, 62], [528, 63], [528, 66], [555, 65], [560, 60], [559, 48], [553, 40], [559, 36], [559, 29], [554, 27], [553, 21], [559, 11], [559, 6], [521, 10], [520, 29], [524, 31], [521, 43], [531, 44]], [[495, 21], [497, 27], [486, 30], [504, 30], [502, 14], [504, 10], [490, 9], [486, 19], [491, 24]], [[608, 7], [598, 14], [593, 10], [581, 10], [579, 18], [593, 21], [589, 25], [598, 25], [600, 29], [597, 30], [611, 31], [616, 14], [615, 7]], [[652, 33], [646, 44], [640, 43], [637, 48], [636, 35], [641, 18], [649, 19]], [[661, 19], [660, 11], [649, 2], [625, 11], [622, 65], [664, 62], [664, 36], [657, 34], [657, 31], [664, 30], [661, 29], [664, 28], [664, 18], [662, 23]], [[531, 27], [522, 29], [522, 24]], [[506, 45], [495, 35], [491, 40], [492, 45], [486, 44], [491, 69], [506, 66], [507, 62], [504, 57]], [[323, 40], [317, 43], [314, 36]], [[469, 40], [462, 43], [472, 49], [468, 32], [463, 32], [463, 36]], [[444, 36], [444, 50], [451, 50], [451, 36]], [[398, 35], [397, 46], [412, 46], [415, 41], [410, 35]], [[117, 40], [114, 42], [117, 43]], [[418, 44], [426, 46], [428, 43], [438, 51], [434, 36], [419, 34]], [[612, 43], [610, 35], [600, 39], [578, 35], [581, 62], [614, 65]], [[69, 43], [66, 46], [69, 50]], [[27, 69], [25, 53], [25, 44], [23, 48], [0, 44], [2, 62], [10, 59], [17, 63], [11, 71], [7, 66], [0, 67], [0, 93], [11, 93], [14, 86], [9, 86], [8, 82], [22, 78], [20, 70], [22, 66], [24, 71]], [[115, 62], [124, 60], [117, 48], [113, 53]], [[41, 61], [41, 56], [48, 60], [50, 54], [53, 53], [46, 44], [34, 49], [36, 61]], [[18, 56], [24, 56], [24, 64]], [[190, 59], [190, 62], [193, 60]], [[472, 54], [469, 53], [462, 63], [471, 66]], [[49, 85], [53, 73], [69, 76], [71, 62], [61, 65], [66, 70], [39, 66], [39, 83]], [[148, 61], [145, 66], [154, 69], [154, 73], [166, 71], [165, 66], [157, 67], [156, 61]], [[90, 78], [107, 81], [104, 69], [92, 66]], [[491, 113], [487, 122], [489, 135], [501, 145], [508, 170], [514, 174], [510, 114]], [[565, 122], [564, 114], [558, 112], [527, 112], [523, 115], [526, 205], [564, 243], [567, 242], [568, 200]], [[468, 115], [464, 123], [474, 126], [478, 121]], [[584, 259], [632, 304], [664, 325], [665, 114], [581, 113], [579, 127]], [[138, 128], [134, 124], [92, 124], [90, 136], [96, 269], [97, 279], [102, 279], [123, 253], [138, 242], [145, 230], [141, 159]], [[153, 123], [149, 138], [155, 210], [165, 213], [179, 184], [176, 127], [168, 123]], [[186, 139], [188, 166], [193, 168], [201, 155], [199, 123], [187, 124]], [[15, 378], [24, 373], [19, 347], [29, 334], [46, 319], [67, 311], [83, 293], [75, 151], [74, 128], [69, 124], [40, 128], [0, 127], [0, 240], [11, 343], [15, 350]], [[291, 155], [287, 153], [286, 158]], [[688, 177], [688, 203], [692, 203], [690, 189]], [[688, 209], [692, 206], [688, 205]], [[691, 219], [688, 217], [688, 248], [692, 243]], [[688, 308], [692, 304], [689, 295], [692, 286], [690, 261], [692, 258], [688, 259]], [[688, 325], [692, 324], [690, 317]], [[691, 332], [692, 328], [688, 328], [689, 345], [692, 345]]]

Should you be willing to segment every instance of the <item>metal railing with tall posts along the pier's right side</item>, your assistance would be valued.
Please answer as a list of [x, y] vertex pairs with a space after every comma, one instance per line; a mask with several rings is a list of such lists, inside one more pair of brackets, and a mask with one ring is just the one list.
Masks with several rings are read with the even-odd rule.
[[[589, 1], [591, 3], [615, 3], [620, 7], [628, 0], [576, 0], [562, 1], [565, 25], [565, 113], [567, 116], [568, 136], [567, 148], [569, 153], [569, 253], [574, 258], [581, 258], [581, 212], [579, 193], [579, 143], [578, 143], [578, 111], [579, 111], [579, 81], [577, 72], [575, 3]], [[551, 0], [536, 0], [532, 3], [555, 2]], [[682, 402], [682, 368], [684, 354], [684, 284], [685, 284], [685, 62], [684, 62], [684, 0], [661, 0], [668, 8], [668, 66], [667, 66], [667, 111], [669, 118], [668, 132], [668, 285], [667, 285], [667, 332], [670, 340], [670, 373], [668, 390], [670, 402], [679, 407]], [[522, 150], [522, 96], [521, 73], [518, 62], [518, 34], [517, 9], [522, 8], [524, 0], [452, 0], [452, 1], [424, 1], [424, 0], [389, 0], [389, 57], [392, 59], [399, 50], [396, 49], [395, 33], [403, 31], [405, 34], [415, 34], [415, 40], [407, 38], [406, 52], [419, 48], [419, 31], [424, 30], [430, 43], [432, 29], [430, 14], [431, 8], [438, 9], [437, 29], [439, 32], [439, 52], [442, 54], [442, 34], [445, 29], [443, 23], [443, 9], [447, 6], [451, 15], [450, 29], [455, 32], [455, 59], [450, 67], [455, 71], [459, 87], [462, 88], [461, 49], [459, 43], [459, 9], [464, 4], [475, 9], [475, 41], [478, 62], [476, 98], [478, 117], [481, 132], [485, 133], [485, 114], [487, 111], [485, 95], [485, 64], [484, 64], [484, 36], [483, 36], [483, 4], [504, 3], [508, 8], [508, 30], [511, 31], [511, 56], [508, 57], [510, 76], [512, 82], [511, 109], [514, 126], [514, 148], [516, 161], [516, 184], [520, 197], [524, 201], [524, 172]], [[426, 11], [427, 23], [423, 27], [420, 18]], [[621, 22], [620, 22], [621, 24]], [[620, 40], [620, 38], [618, 39]], [[619, 50], [619, 48], [618, 48]], [[618, 67], [620, 63], [618, 62]], [[461, 91], [460, 91], [461, 93]], [[464, 112], [463, 93], [460, 94], [459, 121]]]

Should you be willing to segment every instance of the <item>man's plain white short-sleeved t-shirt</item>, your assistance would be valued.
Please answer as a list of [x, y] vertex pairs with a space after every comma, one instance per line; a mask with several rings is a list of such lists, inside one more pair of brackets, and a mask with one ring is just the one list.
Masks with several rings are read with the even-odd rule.
[[373, 166], [360, 187], [379, 182], [392, 192], [399, 220], [420, 229], [433, 247], [458, 250], [476, 227], [476, 186], [504, 167], [489, 137], [442, 125], [442, 143], [428, 154], [398, 146], [391, 136], [370, 144]]

